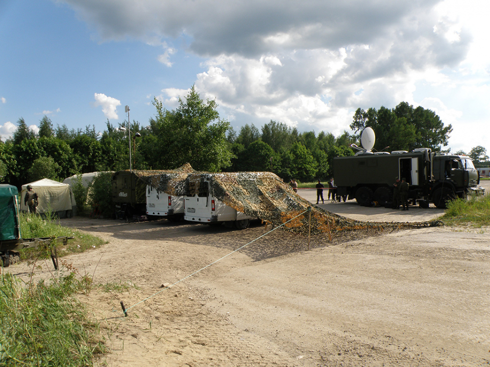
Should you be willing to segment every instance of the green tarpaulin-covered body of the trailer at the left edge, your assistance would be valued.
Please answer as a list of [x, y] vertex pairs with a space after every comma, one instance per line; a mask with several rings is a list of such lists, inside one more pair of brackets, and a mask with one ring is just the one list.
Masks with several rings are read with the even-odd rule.
[[0, 185], [0, 241], [20, 238], [18, 193], [15, 186]]

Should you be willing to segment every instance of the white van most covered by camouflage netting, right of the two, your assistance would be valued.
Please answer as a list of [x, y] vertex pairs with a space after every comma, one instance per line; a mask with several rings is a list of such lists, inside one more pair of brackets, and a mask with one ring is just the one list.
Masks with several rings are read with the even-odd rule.
[[238, 229], [246, 229], [250, 225], [250, 220], [255, 218], [237, 212], [223, 201], [203, 192], [185, 197], [184, 219], [205, 224], [227, 223], [233, 224]]

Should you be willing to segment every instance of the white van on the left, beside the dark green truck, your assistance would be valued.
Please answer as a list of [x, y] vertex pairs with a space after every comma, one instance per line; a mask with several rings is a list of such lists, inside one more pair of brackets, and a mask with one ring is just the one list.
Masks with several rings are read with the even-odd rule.
[[171, 196], [147, 185], [146, 216], [148, 219], [165, 217], [170, 221], [179, 221], [184, 216], [184, 197]]

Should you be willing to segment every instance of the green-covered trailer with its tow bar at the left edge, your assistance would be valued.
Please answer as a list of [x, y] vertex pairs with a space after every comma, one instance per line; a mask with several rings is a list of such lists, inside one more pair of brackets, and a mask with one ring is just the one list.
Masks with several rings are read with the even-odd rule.
[[18, 190], [12, 185], [0, 185], [0, 261], [3, 267], [20, 259], [19, 250], [46, 246], [51, 249], [51, 259], [58, 269], [56, 244], [66, 245], [72, 237], [46, 237], [23, 239], [20, 235]]

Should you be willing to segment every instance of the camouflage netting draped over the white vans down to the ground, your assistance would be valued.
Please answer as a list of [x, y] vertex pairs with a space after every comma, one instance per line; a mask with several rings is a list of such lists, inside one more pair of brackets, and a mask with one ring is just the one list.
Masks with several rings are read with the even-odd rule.
[[341, 217], [321, 207], [312, 206], [271, 172], [207, 173], [193, 171], [190, 165], [186, 165], [168, 173], [140, 177], [148, 185], [170, 195], [185, 196], [189, 193], [209, 192], [237, 211], [274, 226], [284, 224], [299, 215], [284, 227], [303, 234], [307, 234], [308, 231], [311, 234], [330, 235], [351, 230], [382, 231], [436, 226], [440, 223], [361, 222]]

